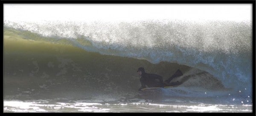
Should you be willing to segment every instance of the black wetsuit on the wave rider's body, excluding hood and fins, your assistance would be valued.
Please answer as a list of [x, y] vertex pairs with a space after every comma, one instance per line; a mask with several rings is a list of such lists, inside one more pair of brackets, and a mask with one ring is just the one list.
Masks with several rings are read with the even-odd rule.
[[148, 87], [163, 87], [163, 78], [157, 74], [142, 73], [140, 78], [141, 87], [139, 90]]

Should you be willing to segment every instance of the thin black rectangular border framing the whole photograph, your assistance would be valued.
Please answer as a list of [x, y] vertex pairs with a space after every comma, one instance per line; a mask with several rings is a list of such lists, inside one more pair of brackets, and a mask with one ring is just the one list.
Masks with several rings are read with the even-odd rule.
[[[255, 38], [255, 5], [256, 5], [256, 0], [1, 0], [1, 10], [2, 10], [2, 18], [1, 21], [3, 22], [3, 4], [9, 4], [9, 3], [17, 3], [17, 4], [38, 4], [38, 3], [46, 3], [46, 4], [77, 4], [77, 3], [100, 3], [100, 4], [108, 4], [108, 3], [114, 3], [114, 4], [119, 4], [119, 3], [126, 3], [126, 4], [163, 4], [163, 3], [172, 3], [172, 4], [252, 4], [252, 25], [253, 25], [253, 56], [252, 56], [252, 66], [253, 66], [253, 94], [252, 94], [252, 102], [253, 102], [253, 112], [252, 113], [172, 113], [175, 115], [195, 115], [195, 116], [205, 116], [205, 115], [232, 115], [232, 116], [244, 116], [244, 115], [249, 115], [249, 116], [256, 116], [256, 58], [255, 58], [255, 44], [256, 44], [256, 38]], [[2, 28], [3, 29], [3, 28]], [[3, 32], [2, 32], [2, 37], [3, 37]], [[3, 45], [3, 44], [2, 44]], [[3, 59], [4, 60], [4, 59]], [[4, 68], [4, 66], [3, 66]], [[3, 71], [4, 73], [4, 71]], [[4, 87], [3, 87], [4, 88]], [[3, 102], [2, 102], [3, 103]], [[3, 108], [3, 107], [2, 107]], [[105, 115], [116, 115], [116, 116], [123, 116], [123, 115], [134, 115], [135, 113], [3, 113], [3, 116], [9, 116], [9, 115], [26, 115], [26, 116], [39, 116], [39, 115], [100, 115], [100, 114], [105, 114]], [[170, 115], [169, 113], [137, 113], [137, 115]], [[136, 115], [136, 114], [135, 114]]]

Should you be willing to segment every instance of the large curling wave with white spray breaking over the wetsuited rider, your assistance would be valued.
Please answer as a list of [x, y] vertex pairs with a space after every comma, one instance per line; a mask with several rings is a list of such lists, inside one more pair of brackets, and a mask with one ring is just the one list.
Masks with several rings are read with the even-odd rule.
[[183, 71], [176, 79], [183, 84], [166, 89], [169, 95], [189, 96], [197, 90], [194, 93], [211, 91], [211, 96], [218, 96], [214, 91], [221, 90], [223, 95], [251, 96], [251, 23], [5, 20], [4, 27], [5, 77], [16, 77], [20, 83], [30, 78], [40, 88], [68, 90], [63, 85], [74, 82], [78, 91], [86, 89], [87, 94], [137, 92], [136, 70], [143, 66], [164, 79], [177, 69]]

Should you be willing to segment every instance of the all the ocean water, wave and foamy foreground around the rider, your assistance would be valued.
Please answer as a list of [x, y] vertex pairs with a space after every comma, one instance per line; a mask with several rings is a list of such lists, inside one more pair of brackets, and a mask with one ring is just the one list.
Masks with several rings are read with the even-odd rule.
[[[4, 21], [4, 112], [252, 112], [248, 22]], [[139, 92], [137, 69], [183, 84]]]

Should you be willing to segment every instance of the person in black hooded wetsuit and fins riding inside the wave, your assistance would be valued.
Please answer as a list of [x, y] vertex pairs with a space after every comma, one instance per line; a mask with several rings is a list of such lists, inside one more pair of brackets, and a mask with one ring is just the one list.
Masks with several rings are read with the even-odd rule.
[[140, 87], [139, 91], [143, 88], [146, 88], [146, 86], [148, 86], [148, 87], [164, 87], [164, 86], [180, 85], [181, 82], [179, 82], [179, 81], [171, 82], [171, 83], [169, 83], [169, 82], [173, 78], [183, 75], [183, 73], [180, 70], [177, 70], [177, 72], [174, 75], [172, 75], [172, 77], [168, 78], [166, 81], [163, 82], [162, 76], [157, 75], [157, 74], [145, 73], [145, 70], [143, 67], [140, 67], [137, 70], [137, 72], [141, 76], [141, 78], [140, 78], [141, 87]]

